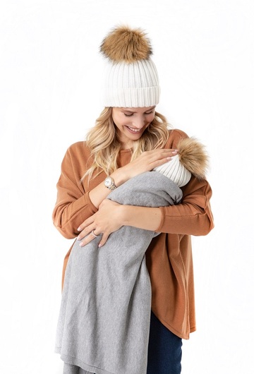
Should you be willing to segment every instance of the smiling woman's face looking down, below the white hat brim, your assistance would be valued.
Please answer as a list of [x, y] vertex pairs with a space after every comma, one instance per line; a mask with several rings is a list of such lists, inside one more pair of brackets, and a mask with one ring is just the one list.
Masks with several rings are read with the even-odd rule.
[[133, 146], [155, 118], [155, 106], [144, 108], [112, 108], [112, 119], [123, 149]]

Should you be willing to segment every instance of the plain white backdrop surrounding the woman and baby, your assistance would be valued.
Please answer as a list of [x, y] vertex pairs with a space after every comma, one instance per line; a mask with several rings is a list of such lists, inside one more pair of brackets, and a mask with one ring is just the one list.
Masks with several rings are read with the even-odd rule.
[[215, 228], [193, 238], [198, 330], [183, 342], [183, 374], [254, 373], [253, 4], [0, 1], [0, 373], [61, 373], [54, 335], [72, 241], [52, 224], [56, 181], [102, 110], [98, 49], [119, 23], [147, 30], [157, 110], [211, 158]]

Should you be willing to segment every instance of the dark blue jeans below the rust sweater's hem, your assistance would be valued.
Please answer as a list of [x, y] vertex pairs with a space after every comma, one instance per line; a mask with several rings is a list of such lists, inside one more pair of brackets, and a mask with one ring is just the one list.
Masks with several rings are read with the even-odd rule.
[[151, 313], [147, 374], [181, 373], [182, 339]]

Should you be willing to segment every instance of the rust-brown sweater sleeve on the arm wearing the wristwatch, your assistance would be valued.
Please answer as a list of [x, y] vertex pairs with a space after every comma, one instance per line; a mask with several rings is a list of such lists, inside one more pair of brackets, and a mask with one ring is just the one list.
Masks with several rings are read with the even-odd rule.
[[[56, 184], [57, 197], [52, 219], [54, 226], [66, 239], [78, 236], [78, 227], [88, 217], [97, 212], [80, 181], [84, 170], [85, 155], [83, 143], [75, 143], [68, 148], [61, 164], [61, 175]], [[83, 164], [82, 164], [83, 163]]]

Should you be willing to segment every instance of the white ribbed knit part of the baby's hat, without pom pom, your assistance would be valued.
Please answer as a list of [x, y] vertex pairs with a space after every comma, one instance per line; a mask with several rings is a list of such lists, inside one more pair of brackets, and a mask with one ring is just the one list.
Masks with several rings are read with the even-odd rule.
[[160, 167], [155, 167], [154, 170], [167, 176], [179, 187], [185, 186], [191, 179], [191, 171], [188, 171], [188, 169], [181, 164], [179, 155], [172, 157], [169, 162], [162, 164]]

